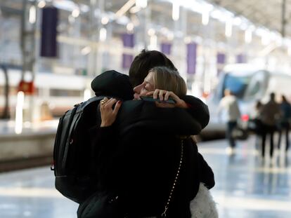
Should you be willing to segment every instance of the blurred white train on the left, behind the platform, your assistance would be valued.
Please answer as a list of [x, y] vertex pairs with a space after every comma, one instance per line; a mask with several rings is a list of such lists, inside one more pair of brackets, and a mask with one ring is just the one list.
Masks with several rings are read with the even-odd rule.
[[[21, 71], [17, 69], [8, 69], [9, 81], [9, 111], [13, 117], [17, 101], [18, 85], [21, 79]], [[41, 104], [48, 104], [53, 116], [62, 115], [67, 109], [70, 109], [78, 102], [84, 101], [93, 95], [90, 91], [93, 78], [81, 75], [65, 75], [52, 73], [38, 73], [35, 75], [33, 97], [34, 107], [41, 107]], [[25, 74], [25, 81], [31, 81], [31, 76]], [[5, 77], [0, 69], [0, 113], [2, 114], [5, 106], [4, 95]], [[85, 96], [84, 96], [85, 95]], [[25, 108], [28, 100], [32, 97], [25, 96]]]

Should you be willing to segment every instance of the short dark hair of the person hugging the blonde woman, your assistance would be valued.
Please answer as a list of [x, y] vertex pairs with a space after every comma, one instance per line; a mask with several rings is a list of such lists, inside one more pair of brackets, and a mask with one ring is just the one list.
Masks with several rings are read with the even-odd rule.
[[134, 57], [129, 68], [129, 81], [133, 87], [143, 83], [148, 71], [153, 67], [169, 67], [176, 70], [176, 67], [169, 58], [157, 50], [141, 50], [141, 53]]

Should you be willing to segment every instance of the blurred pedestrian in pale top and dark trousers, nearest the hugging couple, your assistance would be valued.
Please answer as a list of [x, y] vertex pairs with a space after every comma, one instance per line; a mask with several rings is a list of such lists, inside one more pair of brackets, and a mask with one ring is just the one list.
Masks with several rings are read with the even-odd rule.
[[235, 147], [235, 138], [233, 137], [233, 130], [238, 125], [238, 119], [240, 118], [240, 109], [238, 108], [238, 100], [235, 95], [231, 93], [231, 90], [224, 90], [224, 97], [219, 102], [219, 114], [221, 110], [226, 112], [226, 138], [229, 142], [229, 153], [233, 153]]

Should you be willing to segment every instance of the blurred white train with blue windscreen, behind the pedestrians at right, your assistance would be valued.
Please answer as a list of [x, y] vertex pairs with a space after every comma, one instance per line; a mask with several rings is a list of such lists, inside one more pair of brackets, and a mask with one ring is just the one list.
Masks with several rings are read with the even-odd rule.
[[280, 95], [291, 100], [291, 74], [267, 71], [250, 64], [231, 64], [224, 68], [219, 76], [219, 83], [209, 95], [207, 105], [210, 112], [210, 121], [205, 133], [221, 134], [226, 125], [223, 114], [219, 116], [218, 105], [224, 96], [224, 90], [230, 89], [238, 98], [243, 121], [252, 117], [257, 100], [266, 103], [270, 93], [276, 94], [277, 101]]

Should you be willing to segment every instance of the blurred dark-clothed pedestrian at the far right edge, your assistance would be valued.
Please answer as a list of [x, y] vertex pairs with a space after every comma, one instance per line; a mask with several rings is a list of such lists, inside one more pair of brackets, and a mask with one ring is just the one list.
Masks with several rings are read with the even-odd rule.
[[285, 142], [286, 147], [285, 151], [289, 148], [289, 130], [290, 130], [290, 120], [291, 120], [291, 104], [287, 102], [285, 95], [282, 95], [282, 102], [280, 103], [280, 110], [281, 110], [281, 116], [280, 116], [280, 130], [279, 130], [279, 140], [278, 140], [278, 149], [280, 149], [281, 144], [281, 137], [283, 131], [285, 131]]

